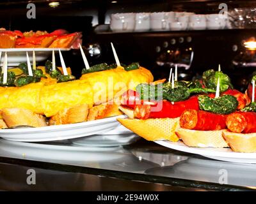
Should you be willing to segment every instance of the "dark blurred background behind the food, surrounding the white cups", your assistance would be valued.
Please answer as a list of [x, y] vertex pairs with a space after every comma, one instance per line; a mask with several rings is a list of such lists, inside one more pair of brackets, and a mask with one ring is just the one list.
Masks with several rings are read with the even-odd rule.
[[[35, 19], [26, 17], [28, 3], [36, 5]], [[221, 64], [222, 71], [230, 75], [235, 87], [244, 91], [252, 72], [256, 70], [255, 50], [247, 50], [243, 44], [249, 38], [256, 37], [254, 27], [145, 33], [112, 33], [101, 29], [102, 25], [109, 24], [111, 13], [191, 11], [208, 14], [218, 13], [220, 3], [227, 3], [228, 10], [256, 8], [256, 1], [246, 0], [2, 0], [0, 27], [22, 32], [51, 32], [56, 29], [82, 32], [83, 48], [91, 65], [114, 62], [110, 47], [110, 42], [113, 42], [121, 62], [129, 64], [138, 61], [141, 66], [150, 69], [156, 79], [168, 78], [173, 66], [170, 64], [173, 63], [189, 64], [186, 69], [180, 65], [180, 80], [200, 77], [204, 70], [218, 69], [218, 64]], [[84, 68], [80, 51], [71, 50], [63, 55], [67, 66], [79, 77]]]

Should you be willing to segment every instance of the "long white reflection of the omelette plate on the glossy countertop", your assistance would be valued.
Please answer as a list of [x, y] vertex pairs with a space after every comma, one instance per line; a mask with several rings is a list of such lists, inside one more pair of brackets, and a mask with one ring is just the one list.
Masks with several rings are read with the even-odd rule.
[[140, 161], [123, 147], [78, 147], [70, 142], [27, 143], [0, 138], [0, 156], [144, 173], [159, 165]]

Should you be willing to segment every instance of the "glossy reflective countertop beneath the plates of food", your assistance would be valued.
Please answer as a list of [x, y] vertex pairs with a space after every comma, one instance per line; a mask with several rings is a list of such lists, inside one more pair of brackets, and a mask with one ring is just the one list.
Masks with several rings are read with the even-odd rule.
[[8, 165], [206, 190], [256, 189], [256, 164], [216, 161], [143, 139], [117, 147], [79, 146], [68, 140], [26, 143], [0, 139], [0, 187], [3, 180], [4, 185], [8, 179], [19, 180]]

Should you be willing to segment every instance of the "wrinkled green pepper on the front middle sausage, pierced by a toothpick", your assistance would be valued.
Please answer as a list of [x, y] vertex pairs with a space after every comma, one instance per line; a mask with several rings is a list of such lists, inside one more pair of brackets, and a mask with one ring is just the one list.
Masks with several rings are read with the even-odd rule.
[[198, 96], [199, 107], [201, 110], [218, 114], [228, 114], [236, 111], [238, 101], [236, 97], [224, 95], [219, 98], [210, 98], [209, 96]]

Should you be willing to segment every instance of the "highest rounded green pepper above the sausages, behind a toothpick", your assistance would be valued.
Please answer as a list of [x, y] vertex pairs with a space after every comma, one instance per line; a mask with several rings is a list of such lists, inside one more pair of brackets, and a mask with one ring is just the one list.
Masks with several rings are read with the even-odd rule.
[[213, 69], [209, 69], [203, 73], [203, 84], [205, 88], [216, 90], [218, 78], [220, 78], [220, 92], [227, 91], [228, 87], [233, 89], [228, 75], [222, 73], [222, 71], [214, 71]]

